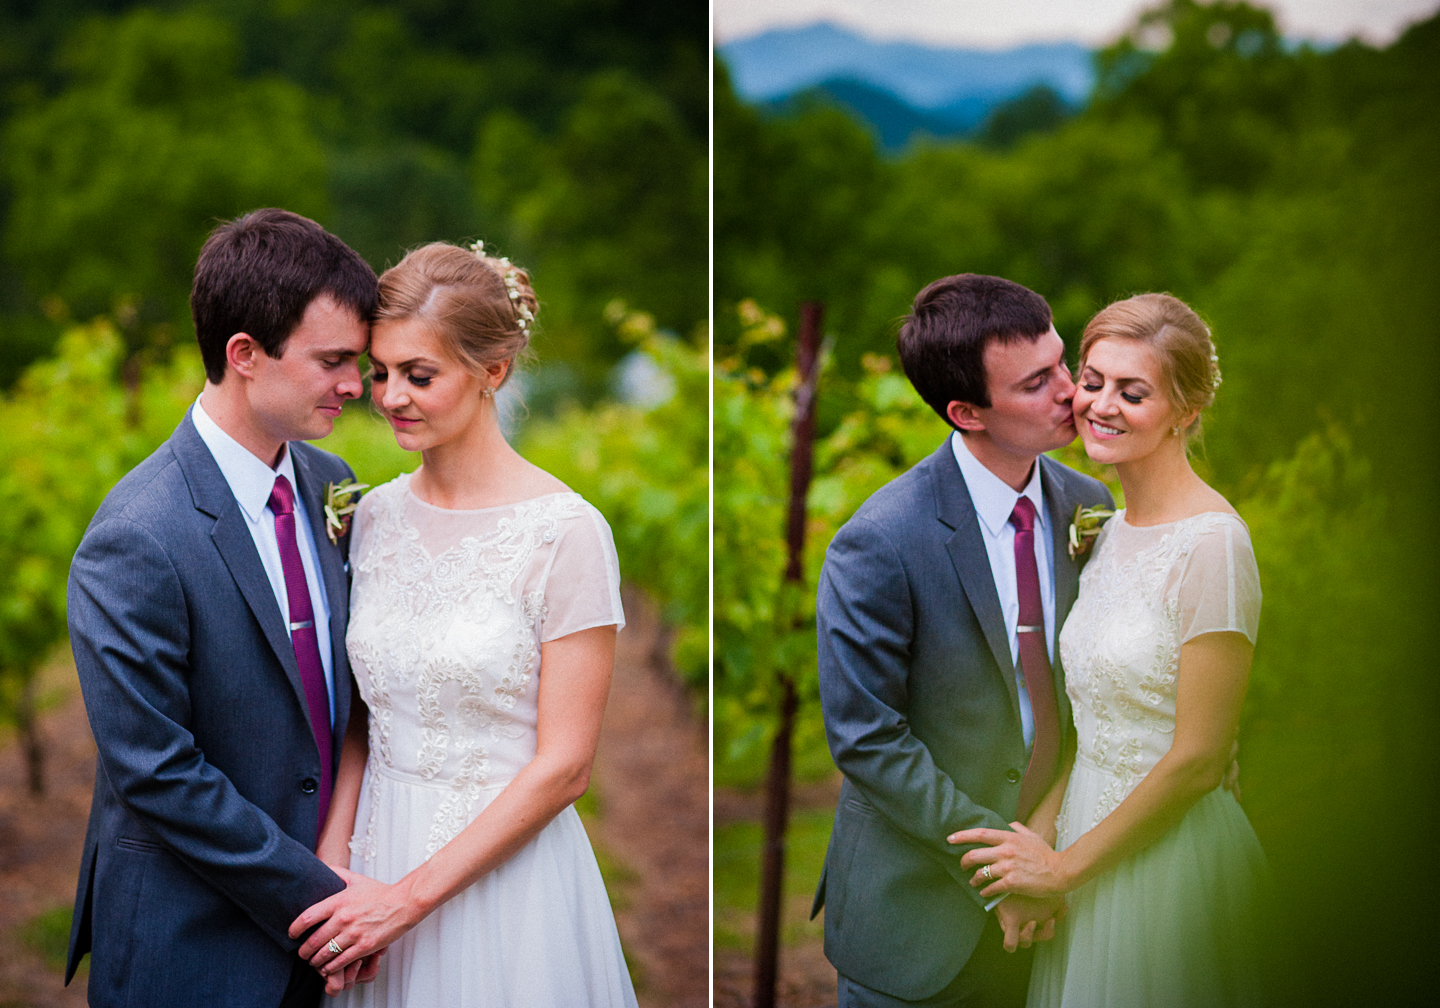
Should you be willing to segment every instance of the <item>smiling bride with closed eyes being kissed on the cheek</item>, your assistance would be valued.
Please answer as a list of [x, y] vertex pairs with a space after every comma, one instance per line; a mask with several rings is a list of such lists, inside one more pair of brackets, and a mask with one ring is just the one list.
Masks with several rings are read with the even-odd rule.
[[[1126, 508], [1100, 530], [1060, 634], [1079, 752], [1015, 832], [962, 858], [985, 896], [1067, 894], [1030, 1007], [1248, 1005], [1264, 855], [1221, 779], [1260, 619], [1250, 533], [1189, 465], [1220, 384], [1210, 331], [1166, 294], [1097, 314], [1076, 426]], [[1051, 847], [1053, 845], [1053, 847]]]

